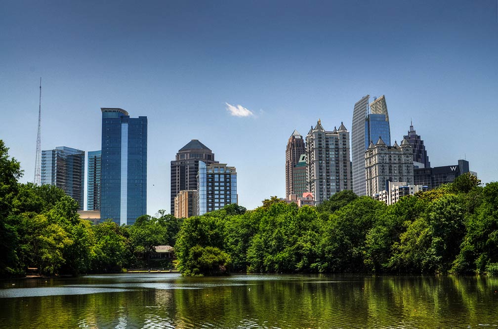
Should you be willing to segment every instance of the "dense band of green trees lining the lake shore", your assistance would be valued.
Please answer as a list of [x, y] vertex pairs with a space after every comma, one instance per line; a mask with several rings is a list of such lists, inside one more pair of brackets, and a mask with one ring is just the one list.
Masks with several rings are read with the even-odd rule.
[[481, 186], [470, 174], [391, 206], [342, 191], [317, 207], [271, 197], [252, 211], [228, 205], [188, 219], [159, 211], [130, 226], [91, 225], [62, 190], [20, 184], [21, 175], [0, 140], [1, 277], [149, 267], [164, 244], [184, 275], [498, 274], [498, 183]]

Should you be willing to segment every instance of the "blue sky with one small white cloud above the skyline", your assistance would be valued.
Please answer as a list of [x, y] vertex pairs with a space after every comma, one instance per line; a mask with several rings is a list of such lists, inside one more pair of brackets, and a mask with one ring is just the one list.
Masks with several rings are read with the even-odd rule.
[[[498, 180], [498, 7], [478, 1], [23, 1], [0, 11], [0, 139], [33, 181], [42, 149], [101, 148], [101, 107], [148, 118], [147, 213], [199, 139], [235, 166], [239, 204], [285, 194], [285, 148], [321, 119], [351, 131], [385, 95], [432, 166]], [[86, 188], [86, 187], [85, 187]]]

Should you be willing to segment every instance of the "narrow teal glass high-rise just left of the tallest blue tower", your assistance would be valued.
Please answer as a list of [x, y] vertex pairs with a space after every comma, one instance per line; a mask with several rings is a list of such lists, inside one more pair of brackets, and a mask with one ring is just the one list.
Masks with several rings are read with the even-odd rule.
[[100, 210], [102, 151], [89, 151], [87, 162], [87, 210]]

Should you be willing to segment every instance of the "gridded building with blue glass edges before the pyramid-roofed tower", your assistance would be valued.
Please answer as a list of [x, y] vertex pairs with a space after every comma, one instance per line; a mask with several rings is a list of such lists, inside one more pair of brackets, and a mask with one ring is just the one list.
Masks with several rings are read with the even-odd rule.
[[229, 167], [225, 163], [208, 165], [199, 161], [197, 191], [199, 215], [220, 210], [226, 205], [238, 204], [235, 167]]

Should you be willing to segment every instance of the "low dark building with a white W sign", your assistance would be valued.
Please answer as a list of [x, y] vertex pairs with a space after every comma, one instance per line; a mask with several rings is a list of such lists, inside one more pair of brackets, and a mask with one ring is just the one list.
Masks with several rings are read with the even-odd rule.
[[470, 172], [469, 161], [458, 160], [453, 166], [442, 166], [434, 168], [415, 168], [414, 180], [417, 185], [425, 185], [430, 190], [440, 187], [442, 184], [453, 183], [458, 176]]

